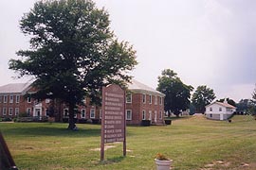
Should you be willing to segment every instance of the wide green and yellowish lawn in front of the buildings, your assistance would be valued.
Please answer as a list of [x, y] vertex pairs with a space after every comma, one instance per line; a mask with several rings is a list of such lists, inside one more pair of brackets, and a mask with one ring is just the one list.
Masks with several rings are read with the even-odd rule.
[[175, 119], [172, 126], [127, 127], [127, 156], [122, 144], [107, 144], [100, 161], [101, 126], [80, 124], [68, 131], [59, 123], [0, 123], [19, 169], [155, 169], [160, 152], [175, 170], [256, 169], [256, 121], [234, 116], [232, 123], [203, 117]]

